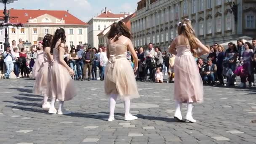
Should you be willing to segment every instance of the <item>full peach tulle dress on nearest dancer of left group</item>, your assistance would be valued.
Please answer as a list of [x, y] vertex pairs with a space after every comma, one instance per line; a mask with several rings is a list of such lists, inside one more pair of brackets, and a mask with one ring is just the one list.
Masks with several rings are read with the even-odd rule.
[[[75, 85], [66, 67], [59, 61], [59, 40], [53, 48], [53, 60], [48, 68], [48, 96], [59, 101], [69, 101], [77, 95]], [[63, 49], [64, 51], [64, 49]]]

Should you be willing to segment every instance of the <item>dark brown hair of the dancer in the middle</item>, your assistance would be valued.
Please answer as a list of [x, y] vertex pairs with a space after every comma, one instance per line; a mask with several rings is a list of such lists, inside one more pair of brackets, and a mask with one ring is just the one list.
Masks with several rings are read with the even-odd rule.
[[110, 27], [109, 35], [107, 36], [107, 38], [111, 40], [116, 36], [114, 40], [114, 42], [116, 42], [121, 35], [131, 39], [131, 32], [127, 27], [125, 27], [123, 22], [122, 21], [114, 22]]

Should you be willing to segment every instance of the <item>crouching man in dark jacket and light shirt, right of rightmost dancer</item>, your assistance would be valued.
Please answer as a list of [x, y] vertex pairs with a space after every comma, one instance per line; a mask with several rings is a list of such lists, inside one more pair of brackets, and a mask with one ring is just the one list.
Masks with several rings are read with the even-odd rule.
[[211, 58], [207, 60], [207, 64], [205, 65], [205, 68], [203, 69], [203, 82], [208, 83], [210, 85], [214, 84], [215, 80], [215, 73], [217, 72], [217, 66], [216, 64], [213, 64], [213, 61]]

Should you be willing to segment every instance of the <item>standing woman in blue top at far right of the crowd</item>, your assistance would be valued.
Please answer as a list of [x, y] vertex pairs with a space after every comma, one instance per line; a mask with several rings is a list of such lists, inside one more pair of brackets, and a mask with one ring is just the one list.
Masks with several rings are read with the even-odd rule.
[[253, 47], [251, 43], [246, 42], [244, 43], [245, 50], [240, 58], [240, 63], [243, 63], [244, 74], [240, 75], [241, 84], [239, 85], [240, 88], [246, 88], [246, 78], [249, 80], [249, 85], [253, 86], [251, 82], [251, 76], [253, 76], [253, 72], [251, 69], [251, 60], [253, 58]]

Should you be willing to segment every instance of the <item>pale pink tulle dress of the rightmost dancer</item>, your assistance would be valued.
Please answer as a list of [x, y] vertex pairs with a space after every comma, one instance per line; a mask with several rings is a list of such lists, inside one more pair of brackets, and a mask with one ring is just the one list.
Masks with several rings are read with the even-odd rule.
[[203, 81], [189, 45], [176, 45], [174, 99], [184, 103], [203, 102]]

